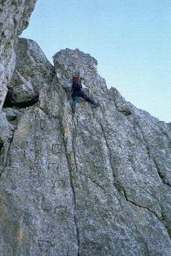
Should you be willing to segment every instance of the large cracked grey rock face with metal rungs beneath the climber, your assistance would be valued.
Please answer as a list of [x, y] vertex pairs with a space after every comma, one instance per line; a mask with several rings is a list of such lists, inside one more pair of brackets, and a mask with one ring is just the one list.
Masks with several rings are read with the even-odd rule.
[[[170, 256], [171, 124], [108, 90], [89, 54], [59, 51], [52, 74], [35, 42], [19, 44], [36, 60], [18, 51], [10, 88], [30, 83], [39, 100], [1, 116], [0, 254]], [[100, 107], [80, 99], [73, 114], [75, 72]]]

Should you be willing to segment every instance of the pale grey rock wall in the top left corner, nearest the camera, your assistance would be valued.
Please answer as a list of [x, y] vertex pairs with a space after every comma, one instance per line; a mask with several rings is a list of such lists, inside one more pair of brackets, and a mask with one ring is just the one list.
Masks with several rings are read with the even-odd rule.
[[15, 44], [29, 23], [36, 0], [0, 1], [0, 110], [15, 68]]

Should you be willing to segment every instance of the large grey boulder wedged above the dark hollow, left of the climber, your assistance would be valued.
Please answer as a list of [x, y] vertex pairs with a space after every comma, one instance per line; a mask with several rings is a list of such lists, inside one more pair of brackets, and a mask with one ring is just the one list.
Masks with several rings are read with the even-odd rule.
[[9, 84], [10, 102], [16, 106], [36, 100], [43, 86], [51, 82], [53, 66], [35, 41], [19, 38], [15, 47], [16, 66]]

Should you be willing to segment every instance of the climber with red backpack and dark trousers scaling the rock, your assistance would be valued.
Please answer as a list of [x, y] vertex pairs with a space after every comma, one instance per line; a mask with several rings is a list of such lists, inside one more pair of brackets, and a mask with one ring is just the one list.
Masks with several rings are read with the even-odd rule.
[[[79, 75], [74, 75], [72, 78], [72, 84], [68, 84], [66, 89], [69, 90], [69, 88], [71, 88], [71, 97], [72, 97], [72, 105], [71, 108], [73, 110], [73, 112], [75, 112], [75, 105], [77, 103], [77, 98], [81, 97], [83, 98], [86, 102], [90, 102], [91, 104], [93, 104], [94, 106], [100, 106], [99, 103], [96, 103], [94, 100], [92, 100], [90, 97], [88, 97], [82, 90], [81, 88], [83, 88], [81, 81], [85, 79], [81, 78]], [[85, 90], [89, 90], [88, 87], [85, 87]]]

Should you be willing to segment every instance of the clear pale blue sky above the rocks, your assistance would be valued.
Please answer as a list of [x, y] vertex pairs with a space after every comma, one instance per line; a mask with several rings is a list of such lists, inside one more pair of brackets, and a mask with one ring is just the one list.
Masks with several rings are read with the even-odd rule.
[[37, 0], [22, 37], [47, 59], [78, 48], [98, 60], [110, 88], [171, 122], [170, 0]]

